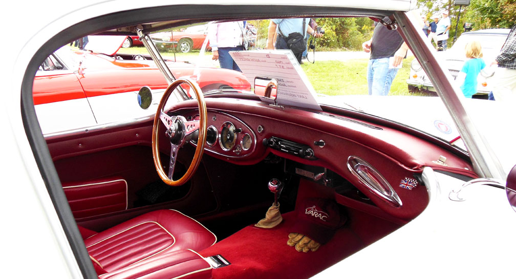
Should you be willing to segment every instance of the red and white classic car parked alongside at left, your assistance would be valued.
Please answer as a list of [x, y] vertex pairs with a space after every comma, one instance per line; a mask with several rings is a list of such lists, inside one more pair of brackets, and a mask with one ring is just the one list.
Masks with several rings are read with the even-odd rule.
[[[89, 38], [86, 48], [98, 47], [95, 36]], [[137, 93], [142, 86], [148, 86], [159, 98], [167, 88], [166, 80], [155, 63], [146, 60], [149, 56], [116, 54], [119, 46], [120, 43], [115, 43], [115, 46], [100, 47], [103, 50], [99, 52], [106, 55], [72, 52], [65, 45], [41, 63], [34, 79], [33, 99], [43, 134], [134, 119], [150, 113], [137, 106]], [[167, 61], [167, 64], [175, 77], [198, 79], [204, 92], [227, 88], [250, 90], [250, 84], [240, 72], [214, 68], [196, 71], [195, 65], [184, 62]], [[108, 102], [129, 107], [113, 110], [106, 105]], [[72, 114], [74, 118], [63, 117]]]

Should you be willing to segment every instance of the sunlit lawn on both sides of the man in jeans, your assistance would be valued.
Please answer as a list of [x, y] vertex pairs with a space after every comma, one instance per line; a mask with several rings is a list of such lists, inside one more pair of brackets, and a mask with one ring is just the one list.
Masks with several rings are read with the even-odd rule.
[[[410, 63], [414, 57], [404, 59], [394, 79], [389, 95], [411, 95], [407, 90]], [[368, 59], [348, 61], [315, 61], [303, 63], [301, 68], [317, 93], [326, 95], [367, 95], [366, 68]]]

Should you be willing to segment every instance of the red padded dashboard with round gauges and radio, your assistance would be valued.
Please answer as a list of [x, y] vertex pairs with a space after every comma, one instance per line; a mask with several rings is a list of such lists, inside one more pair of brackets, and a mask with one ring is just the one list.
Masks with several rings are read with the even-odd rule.
[[[470, 173], [471, 165], [459, 156], [383, 123], [253, 100], [205, 100], [206, 155], [237, 165], [254, 165], [269, 154], [282, 157], [285, 172], [318, 182], [333, 180], [327, 186], [334, 188], [338, 202], [377, 215], [410, 220], [420, 214], [428, 194], [418, 178], [424, 166], [440, 167], [432, 162], [440, 155], [448, 158], [447, 171]], [[183, 102], [170, 112], [193, 120], [199, 117], [196, 107]], [[400, 186], [415, 180], [421, 186]]]

